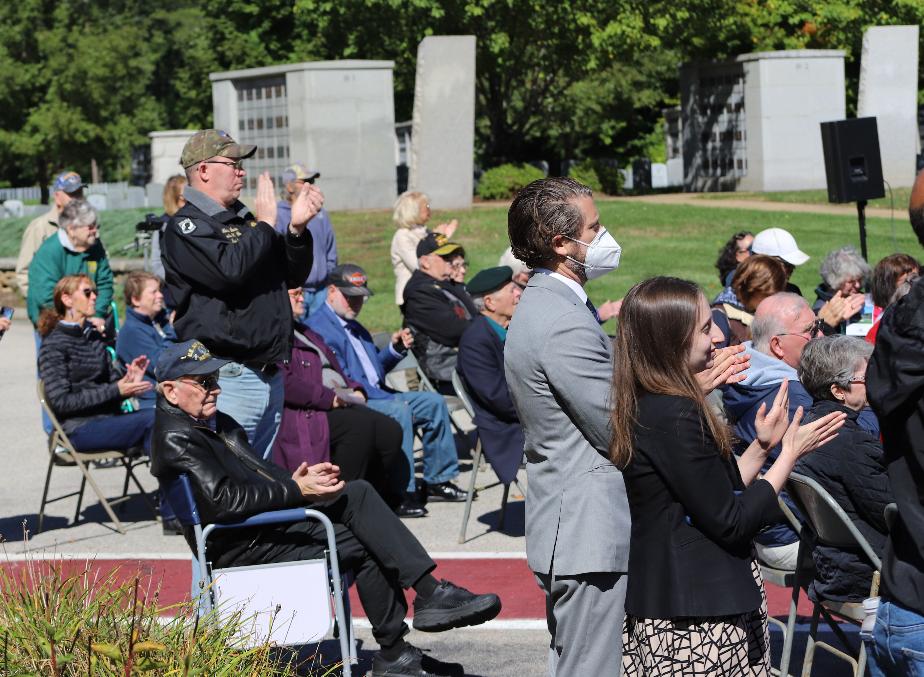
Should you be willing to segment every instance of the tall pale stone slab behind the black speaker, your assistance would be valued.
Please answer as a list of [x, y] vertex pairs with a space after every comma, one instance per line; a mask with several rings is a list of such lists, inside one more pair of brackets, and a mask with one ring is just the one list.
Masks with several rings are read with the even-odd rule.
[[921, 138], [917, 120], [918, 27], [873, 26], [863, 34], [857, 117], [875, 117], [882, 176], [893, 188], [914, 183]]

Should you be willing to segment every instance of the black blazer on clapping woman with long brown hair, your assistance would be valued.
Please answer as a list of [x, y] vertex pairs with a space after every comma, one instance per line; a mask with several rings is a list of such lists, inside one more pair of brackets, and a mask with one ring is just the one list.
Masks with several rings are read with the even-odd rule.
[[626, 612], [716, 617], [757, 609], [754, 535], [779, 515], [769, 482], [744, 487], [688, 399], [642, 394], [623, 470], [632, 538]]

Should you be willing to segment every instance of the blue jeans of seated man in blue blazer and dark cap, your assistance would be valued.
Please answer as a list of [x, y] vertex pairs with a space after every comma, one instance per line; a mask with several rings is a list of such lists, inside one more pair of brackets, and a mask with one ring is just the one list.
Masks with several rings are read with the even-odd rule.
[[452, 437], [449, 410], [442, 395], [436, 393], [395, 393], [387, 399], [369, 400], [370, 409], [380, 411], [401, 424], [401, 449], [411, 466], [408, 492], [414, 482], [414, 428], [421, 429], [424, 447], [424, 481], [440, 484], [459, 474], [459, 456]]

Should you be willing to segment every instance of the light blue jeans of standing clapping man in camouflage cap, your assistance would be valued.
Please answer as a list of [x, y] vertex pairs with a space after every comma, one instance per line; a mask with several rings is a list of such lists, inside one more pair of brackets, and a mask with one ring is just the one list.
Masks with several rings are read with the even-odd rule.
[[218, 385], [218, 411], [240, 424], [257, 455], [269, 458], [282, 421], [282, 372], [267, 377], [240, 362], [229, 362], [218, 372]]

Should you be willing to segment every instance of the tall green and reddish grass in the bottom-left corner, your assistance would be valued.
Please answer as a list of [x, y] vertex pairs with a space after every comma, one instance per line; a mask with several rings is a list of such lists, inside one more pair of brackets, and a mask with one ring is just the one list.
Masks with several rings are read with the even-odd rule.
[[2, 675], [323, 675], [317, 656], [262, 644], [241, 648], [241, 614], [196, 618], [194, 604], [161, 607], [158, 591], [118, 570], [66, 576], [60, 562], [0, 566]]

